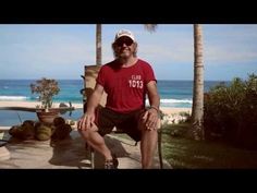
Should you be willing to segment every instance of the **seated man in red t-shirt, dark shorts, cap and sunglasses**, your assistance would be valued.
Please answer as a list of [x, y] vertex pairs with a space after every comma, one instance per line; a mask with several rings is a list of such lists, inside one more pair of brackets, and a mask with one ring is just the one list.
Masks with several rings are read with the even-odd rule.
[[[140, 141], [142, 167], [151, 168], [160, 105], [157, 81], [150, 64], [137, 58], [137, 43], [132, 32], [118, 32], [112, 49], [115, 59], [101, 67], [86, 113], [78, 120], [78, 131], [105, 156], [105, 168], [118, 165], [102, 137], [114, 126]], [[108, 95], [107, 105], [98, 108], [103, 91]], [[146, 95], [150, 104], [147, 109]]]

